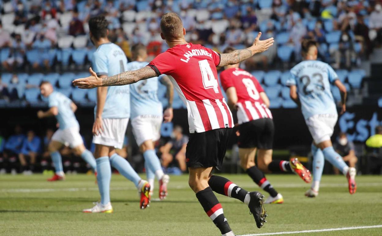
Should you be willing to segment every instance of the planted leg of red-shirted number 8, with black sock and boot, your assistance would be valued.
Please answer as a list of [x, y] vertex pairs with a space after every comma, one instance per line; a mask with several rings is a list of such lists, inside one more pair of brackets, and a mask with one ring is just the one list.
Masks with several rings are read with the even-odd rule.
[[[272, 151], [272, 150], [271, 150]], [[283, 203], [284, 199], [279, 194], [270, 182], [265, 177], [264, 173], [255, 166], [256, 148], [239, 148], [240, 166], [248, 174], [249, 177], [264, 191], [269, 193], [269, 197], [265, 200], [265, 203]], [[265, 160], [268, 158], [270, 160]], [[272, 161], [272, 154], [270, 156], [257, 156], [257, 163], [269, 163]]]

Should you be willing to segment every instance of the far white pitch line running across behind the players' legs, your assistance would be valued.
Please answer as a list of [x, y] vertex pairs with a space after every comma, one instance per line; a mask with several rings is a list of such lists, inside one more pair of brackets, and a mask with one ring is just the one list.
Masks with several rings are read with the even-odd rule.
[[[378, 187], [382, 186], [382, 182], [371, 182], [360, 184], [363, 187]], [[243, 184], [241, 187], [251, 188], [256, 187], [253, 184]], [[307, 184], [275, 184], [274, 187], [277, 188], [298, 188], [298, 187], [309, 187]], [[347, 184], [320, 184], [320, 187], [347, 187]], [[120, 190], [134, 190], [134, 187], [111, 187], [110, 190], [120, 191]], [[175, 185], [170, 186], [170, 189], [189, 189], [186, 185]], [[83, 191], [98, 191], [97, 187], [93, 188], [57, 188], [57, 189], [0, 189], [0, 192], [83, 192]]]

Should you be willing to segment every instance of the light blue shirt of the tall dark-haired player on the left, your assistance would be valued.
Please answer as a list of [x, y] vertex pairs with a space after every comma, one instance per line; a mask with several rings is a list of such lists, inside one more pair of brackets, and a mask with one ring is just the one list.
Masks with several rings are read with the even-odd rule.
[[[116, 44], [101, 44], [93, 54], [92, 69], [97, 76], [117, 75], [125, 72], [127, 59], [123, 50]], [[94, 89], [96, 90], [96, 89]], [[94, 107], [94, 114], [97, 106]], [[130, 116], [129, 85], [107, 87], [107, 95], [102, 118], [120, 119]]]

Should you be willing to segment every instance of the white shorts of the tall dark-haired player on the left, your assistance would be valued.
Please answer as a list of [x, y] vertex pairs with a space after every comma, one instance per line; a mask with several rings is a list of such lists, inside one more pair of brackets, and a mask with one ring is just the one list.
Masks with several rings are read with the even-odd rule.
[[104, 130], [99, 135], [93, 136], [93, 143], [121, 149], [128, 123], [129, 118], [102, 119]]

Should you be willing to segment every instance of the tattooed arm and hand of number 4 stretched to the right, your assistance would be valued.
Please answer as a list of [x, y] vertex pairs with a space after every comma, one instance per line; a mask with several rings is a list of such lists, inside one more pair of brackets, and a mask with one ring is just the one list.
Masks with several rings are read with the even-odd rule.
[[243, 60], [246, 60], [249, 57], [252, 57], [252, 55], [256, 53], [264, 52], [270, 46], [273, 45], [274, 43], [273, 38], [260, 40], [260, 36], [261, 36], [261, 32], [257, 34], [257, 37], [251, 47], [248, 47], [246, 49], [235, 50], [230, 53], [220, 54], [219, 67], [240, 63]]

